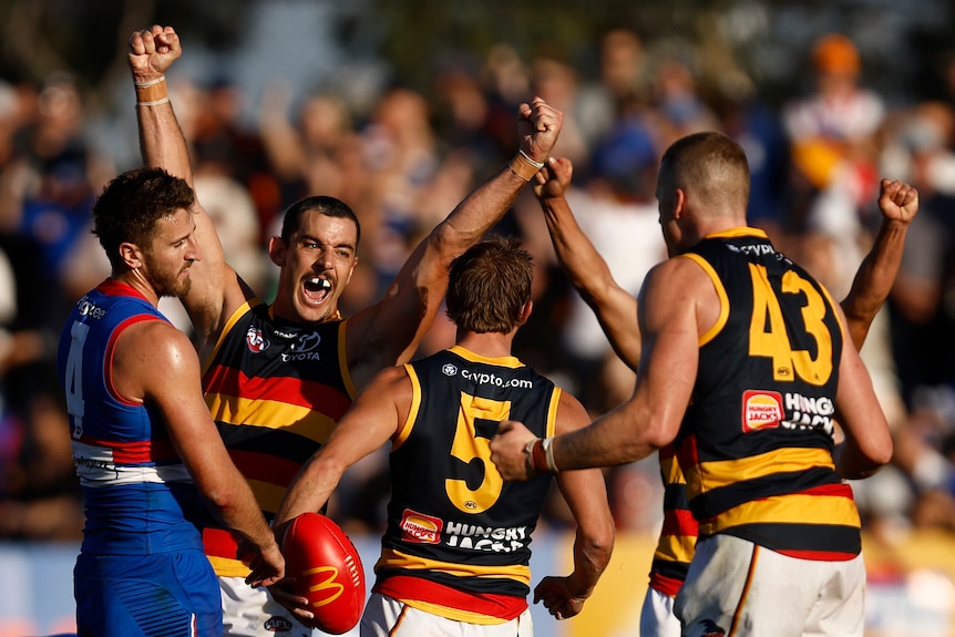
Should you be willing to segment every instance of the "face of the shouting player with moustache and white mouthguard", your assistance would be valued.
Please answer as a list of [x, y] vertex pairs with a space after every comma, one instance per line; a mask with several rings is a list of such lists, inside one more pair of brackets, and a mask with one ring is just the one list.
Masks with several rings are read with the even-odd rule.
[[[350, 219], [316, 212], [300, 220], [288, 245], [280, 237], [269, 240], [269, 257], [281, 268], [273, 309], [296, 322], [320, 322], [335, 316], [358, 265], [358, 228]], [[327, 290], [322, 281], [328, 281]]]

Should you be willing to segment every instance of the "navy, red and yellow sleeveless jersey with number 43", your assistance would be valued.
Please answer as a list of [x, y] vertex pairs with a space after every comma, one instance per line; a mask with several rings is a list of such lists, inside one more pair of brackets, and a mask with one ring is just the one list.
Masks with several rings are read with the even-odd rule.
[[835, 302], [761, 230], [708, 236], [720, 317], [677, 436], [700, 536], [727, 533], [807, 559], [861, 549], [851, 487], [833, 461], [843, 331]]

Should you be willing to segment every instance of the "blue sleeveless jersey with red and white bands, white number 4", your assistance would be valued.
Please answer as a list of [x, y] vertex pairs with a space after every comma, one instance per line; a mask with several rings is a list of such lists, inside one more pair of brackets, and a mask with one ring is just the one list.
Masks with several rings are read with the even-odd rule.
[[166, 319], [132, 287], [106, 279], [76, 302], [60, 338], [58, 370], [86, 510], [84, 553], [202, 549], [203, 504], [163, 419], [113, 388], [116, 340], [146, 320]]

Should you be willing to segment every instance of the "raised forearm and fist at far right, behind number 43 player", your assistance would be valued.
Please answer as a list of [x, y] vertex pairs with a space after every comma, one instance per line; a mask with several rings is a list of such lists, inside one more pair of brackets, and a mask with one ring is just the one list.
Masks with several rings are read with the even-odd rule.
[[904, 182], [882, 179], [879, 209], [882, 210], [879, 235], [855, 273], [849, 296], [842, 301], [849, 333], [859, 349], [895, 282], [905, 234], [918, 212], [918, 192]]

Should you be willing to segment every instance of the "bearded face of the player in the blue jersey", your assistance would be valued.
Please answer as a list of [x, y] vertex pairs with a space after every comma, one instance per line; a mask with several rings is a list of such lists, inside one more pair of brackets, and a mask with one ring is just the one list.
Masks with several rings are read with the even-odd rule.
[[123, 244], [120, 249], [138, 251], [140, 265], [132, 270], [132, 276], [148, 286], [156, 299], [188, 292], [189, 268], [203, 258], [196, 242], [195, 216], [184, 208], [156, 222], [147, 247], [140, 250], [133, 244]]

